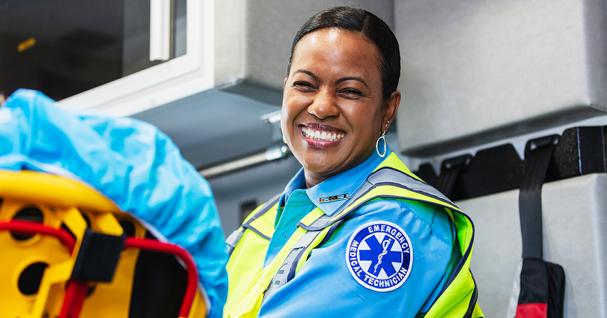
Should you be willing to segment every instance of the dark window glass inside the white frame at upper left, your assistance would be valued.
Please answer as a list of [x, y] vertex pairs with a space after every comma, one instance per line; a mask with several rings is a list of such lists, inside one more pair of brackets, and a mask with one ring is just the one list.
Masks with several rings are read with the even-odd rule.
[[[172, 1], [171, 58], [185, 54], [185, 4]], [[59, 100], [159, 64], [149, 13], [149, 0], [0, 1], [0, 93]]]

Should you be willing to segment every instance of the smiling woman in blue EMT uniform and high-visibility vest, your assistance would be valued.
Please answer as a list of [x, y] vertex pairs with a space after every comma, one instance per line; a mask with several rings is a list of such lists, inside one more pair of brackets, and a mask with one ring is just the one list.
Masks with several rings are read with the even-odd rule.
[[303, 168], [228, 238], [225, 317], [481, 315], [472, 223], [385, 145], [399, 72], [395, 36], [365, 10], [300, 28], [280, 124]]

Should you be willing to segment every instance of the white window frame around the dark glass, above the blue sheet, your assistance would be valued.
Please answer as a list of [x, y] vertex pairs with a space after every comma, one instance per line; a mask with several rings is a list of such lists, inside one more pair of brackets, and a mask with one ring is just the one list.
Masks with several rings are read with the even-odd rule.
[[186, 54], [58, 102], [129, 116], [214, 87], [214, 0], [188, 0]]

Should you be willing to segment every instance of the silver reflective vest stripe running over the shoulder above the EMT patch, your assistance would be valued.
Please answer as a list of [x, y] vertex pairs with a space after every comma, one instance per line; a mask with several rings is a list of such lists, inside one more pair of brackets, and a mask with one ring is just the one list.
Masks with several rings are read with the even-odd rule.
[[[362, 187], [358, 191], [356, 191], [356, 193], [354, 193], [351, 199], [348, 200], [346, 204], [344, 204], [341, 208], [339, 208], [339, 210], [336, 211], [336, 213], [333, 214], [337, 217], [330, 217], [326, 214], [322, 214], [322, 216], [318, 217], [310, 225], [302, 224], [302, 222], [299, 222], [299, 224], [297, 224], [298, 227], [304, 228], [307, 231], [293, 245], [287, 258], [282, 262], [282, 265], [280, 265], [280, 268], [276, 272], [276, 274], [274, 274], [274, 277], [270, 282], [270, 286], [268, 286], [268, 289], [263, 295], [263, 300], [267, 299], [267, 297], [270, 296], [274, 292], [274, 290], [276, 290], [276, 288], [285, 285], [285, 283], [293, 279], [293, 277], [295, 276], [295, 271], [297, 270], [297, 263], [299, 263], [299, 260], [303, 256], [305, 250], [314, 241], [316, 236], [318, 236], [318, 234], [320, 234], [320, 232], [324, 230], [324, 228], [330, 225], [337, 226], [341, 224], [341, 222], [344, 221], [344, 217], [347, 216], [349, 213], [344, 213], [343, 215], [340, 215], [340, 213], [342, 213], [345, 209], [350, 207], [353, 202], [356, 202], [356, 200], [360, 199], [362, 196], [367, 194], [369, 191], [373, 190], [373, 188], [377, 187], [378, 185], [392, 185], [394, 187], [404, 188], [409, 191], [423, 194], [424, 196], [432, 197], [433, 199], [439, 200], [444, 204], [453, 205], [453, 207], [455, 207], [455, 205], [449, 199], [447, 199], [447, 197], [445, 197], [442, 193], [440, 193], [438, 190], [436, 190], [429, 184], [419, 181], [418, 179], [415, 179], [414, 177], [409, 176], [409, 174], [403, 173], [402, 171], [398, 171], [389, 167], [381, 168], [375, 171], [374, 173], [370, 174], [370, 176], [367, 177], [367, 181], [362, 185]], [[364, 205], [365, 203], [377, 197], [386, 196], [370, 197], [367, 200], [364, 200], [364, 202], [358, 204], [356, 207], [351, 208], [350, 211], [356, 210], [356, 208], [360, 207], [361, 205]], [[401, 196], [393, 197], [406, 199], [406, 197]]]

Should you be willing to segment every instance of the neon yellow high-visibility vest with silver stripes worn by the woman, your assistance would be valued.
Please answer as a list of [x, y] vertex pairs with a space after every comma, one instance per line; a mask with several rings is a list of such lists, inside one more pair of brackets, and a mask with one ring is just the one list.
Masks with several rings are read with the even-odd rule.
[[279, 196], [254, 210], [226, 241], [231, 256], [226, 266], [229, 287], [223, 316], [256, 317], [264, 297], [293, 279], [313, 248], [328, 240], [352, 211], [376, 199], [429, 202], [443, 207], [455, 224], [461, 260], [427, 313], [418, 316], [482, 317], [476, 303], [478, 288], [469, 268], [474, 238], [472, 220], [443, 194], [412, 174], [395, 153], [332, 216], [315, 208], [300, 220], [297, 230], [265, 268], [263, 259], [274, 233]]

